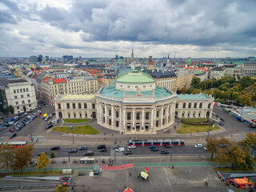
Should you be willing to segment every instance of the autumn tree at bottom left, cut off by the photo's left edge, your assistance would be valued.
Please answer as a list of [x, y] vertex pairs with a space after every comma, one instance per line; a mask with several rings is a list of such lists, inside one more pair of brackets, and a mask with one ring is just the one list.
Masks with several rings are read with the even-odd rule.
[[6, 168], [9, 173], [9, 169], [13, 161], [14, 149], [8, 144], [3, 144], [0, 148], [0, 154], [0, 166], [1, 168]]

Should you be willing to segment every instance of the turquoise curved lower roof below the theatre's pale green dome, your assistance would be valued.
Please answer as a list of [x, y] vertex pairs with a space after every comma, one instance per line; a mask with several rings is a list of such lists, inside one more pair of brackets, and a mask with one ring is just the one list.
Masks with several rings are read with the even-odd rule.
[[[109, 97], [109, 98], [124, 98], [124, 95], [136, 97], [137, 92], [136, 91], [125, 91], [125, 93], [124, 93], [123, 90], [117, 90], [115, 86], [107, 86], [107, 87], [102, 87], [99, 94], [101, 94], [102, 96]], [[151, 97], [155, 97], [155, 98], [165, 98], [165, 97], [172, 95], [170, 90], [166, 90], [166, 88], [163, 88], [160, 86], [155, 86], [155, 90], [141, 91], [141, 94], [142, 94], [142, 97], [143, 96], [151, 96]]]

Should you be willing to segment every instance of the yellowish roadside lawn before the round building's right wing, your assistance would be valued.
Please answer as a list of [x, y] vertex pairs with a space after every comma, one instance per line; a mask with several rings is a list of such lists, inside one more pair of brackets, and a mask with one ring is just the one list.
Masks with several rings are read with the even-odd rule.
[[182, 124], [182, 126], [180, 126], [178, 128], [178, 130], [176, 130], [177, 134], [193, 134], [193, 133], [199, 133], [199, 132], [207, 132], [209, 130], [219, 130], [219, 126], [214, 126], [214, 128], [212, 126], [194, 126], [194, 125], [186, 125], [186, 124]]

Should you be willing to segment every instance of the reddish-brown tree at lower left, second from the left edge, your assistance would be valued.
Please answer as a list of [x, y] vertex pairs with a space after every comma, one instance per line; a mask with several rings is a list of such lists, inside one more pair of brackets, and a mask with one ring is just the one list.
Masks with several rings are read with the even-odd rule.
[[15, 148], [14, 150], [14, 157], [13, 157], [13, 163], [11, 165], [11, 168], [13, 170], [18, 170], [25, 168], [30, 164], [32, 161], [32, 150], [33, 150], [33, 145], [27, 145], [24, 147], [18, 147]]

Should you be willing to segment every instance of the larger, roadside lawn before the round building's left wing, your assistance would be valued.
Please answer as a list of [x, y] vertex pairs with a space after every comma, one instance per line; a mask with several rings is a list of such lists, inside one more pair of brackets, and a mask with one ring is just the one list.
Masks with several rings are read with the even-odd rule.
[[[54, 131], [62, 132], [66, 134], [72, 134], [70, 126], [58, 126], [53, 128]], [[74, 126], [74, 134], [99, 134], [98, 130], [95, 130], [94, 127], [90, 125], [84, 126]]]

